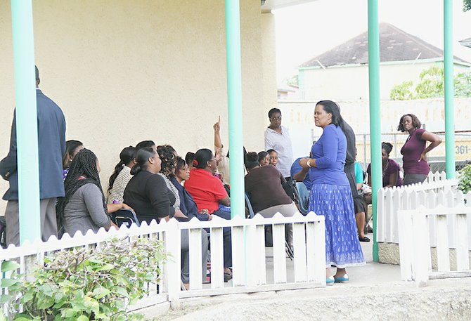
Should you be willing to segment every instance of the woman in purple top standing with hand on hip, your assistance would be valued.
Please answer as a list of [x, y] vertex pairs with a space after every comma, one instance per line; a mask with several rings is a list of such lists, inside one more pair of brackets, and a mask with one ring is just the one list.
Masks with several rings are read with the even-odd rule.
[[[397, 126], [398, 131], [408, 132], [409, 137], [401, 148], [402, 167], [404, 168], [404, 185], [422, 183], [430, 171], [427, 153], [441, 143], [434, 133], [420, 129], [420, 120], [415, 114], [404, 114]], [[430, 145], [427, 145], [430, 141]]]

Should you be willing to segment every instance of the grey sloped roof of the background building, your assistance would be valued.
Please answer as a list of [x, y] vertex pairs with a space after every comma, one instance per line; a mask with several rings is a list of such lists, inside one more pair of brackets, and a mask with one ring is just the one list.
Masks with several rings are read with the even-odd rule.
[[[380, 61], [404, 61], [442, 58], [443, 51], [389, 23], [380, 24]], [[455, 57], [463, 63], [467, 61]], [[340, 46], [303, 63], [299, 67], [324, 67], [368, 64], [368, 32], [363, 32]]]

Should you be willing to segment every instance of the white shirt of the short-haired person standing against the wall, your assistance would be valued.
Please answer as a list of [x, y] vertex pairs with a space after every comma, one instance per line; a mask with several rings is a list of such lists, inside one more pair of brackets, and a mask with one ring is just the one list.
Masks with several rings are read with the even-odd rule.
[[292, 145], [288, 129], [281, 126], [281, 133], [267, 128], [265, 131], [265, 150], [276, 150], [278, 153], [278, 164], [276, 168], [283, 177], [290, 177], [292, 165]]

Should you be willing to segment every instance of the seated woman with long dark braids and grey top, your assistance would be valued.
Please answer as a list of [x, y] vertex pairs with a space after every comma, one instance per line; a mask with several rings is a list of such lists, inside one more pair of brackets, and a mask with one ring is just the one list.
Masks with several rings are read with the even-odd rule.
[[65, 197], [56, 205], [59, 221], [69, 235], [77, 231], [85, 234], [88, 230], [117, 228], [108, 212], [130, 209], [126, 204], [106, 205], [99, 172], [100, 164], [91, 150], [83, 149], [75, 155], [64, 181]]

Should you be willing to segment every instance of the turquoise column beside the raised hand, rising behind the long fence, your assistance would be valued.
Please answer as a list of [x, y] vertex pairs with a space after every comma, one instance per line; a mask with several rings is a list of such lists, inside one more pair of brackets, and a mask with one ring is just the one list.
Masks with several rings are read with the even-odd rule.
[[226, 0], [227, 99], [231, 165], [231, 217], [245, 217], [242, 64], [239, 0]]

